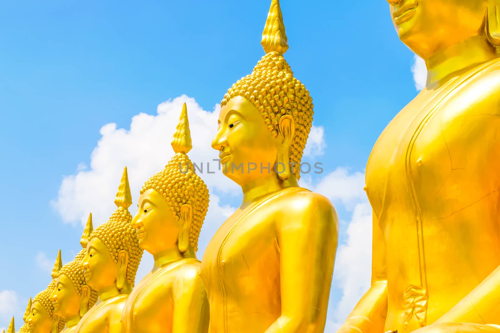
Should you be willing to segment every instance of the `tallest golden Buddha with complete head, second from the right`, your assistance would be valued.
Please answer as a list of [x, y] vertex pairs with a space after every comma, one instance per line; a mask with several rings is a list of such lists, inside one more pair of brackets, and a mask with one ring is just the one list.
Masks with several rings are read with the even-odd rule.
[[338, 237], [330, 201], [298, 187], [312, 99], [283, 58], [278, 0], [262, 35], [266, 54], [221, 102], [212, 147], [243, 201], [201, 261], [210, 333], [323, 332]]

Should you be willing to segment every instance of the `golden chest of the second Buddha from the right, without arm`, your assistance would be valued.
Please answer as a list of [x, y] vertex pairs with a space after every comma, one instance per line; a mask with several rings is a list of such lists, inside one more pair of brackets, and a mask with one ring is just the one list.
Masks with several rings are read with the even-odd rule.
[[201, 262], [210, 304], [209, 332], [255, 333], [280, 316], [276, 219], [288, 188], [236, 211], [215, 233]]

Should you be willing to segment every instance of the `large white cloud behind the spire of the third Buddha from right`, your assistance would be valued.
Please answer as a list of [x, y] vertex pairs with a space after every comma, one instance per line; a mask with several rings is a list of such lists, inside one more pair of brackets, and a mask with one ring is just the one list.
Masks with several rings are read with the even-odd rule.
[[[65, 176], [58, 198], [52, 202], [63, 221], [80, 221], [84, 225], [89, 212], [92, 212], [94, 226], [107, 221], [116, 208], [114, 195], [124, 166], [127, 166], [134, 202], [130, 211], [134, 214], [144, 181], [162, 170], [174, 154], [170, 141], [183, 102], [187, 104], [193, 142], [193, 149], [188, 154], [191, 161], [197, 165], [203, 163], [203, 180], [210, 190], [239, 193], [237, 185], [224, 177], [217, 162], [213, 161], [217, 152], [211, 148], [210, 142], [217, 129], [220, 106], [216, 105], [211, 112], [205, 111], [193, 98], [182, 95], [159, 104], [156, 115], [135, 115], [129, 130], [117, 128], [114, 123], [102, 126], [102, 136], [92, 151], [89, 167], [80, 163], [74, 175]], [[207, 162], [210, 162], [210, 172], [215, 171], [214, 174], [207, 173]], [[214, 201], [210, 200], [210, 209], [213, 205]]]

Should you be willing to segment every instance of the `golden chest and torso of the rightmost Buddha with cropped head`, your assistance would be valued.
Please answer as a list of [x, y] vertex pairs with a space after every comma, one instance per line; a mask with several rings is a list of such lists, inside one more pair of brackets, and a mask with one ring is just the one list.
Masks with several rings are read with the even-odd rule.
[[500, 264], [497, 63], [420, 92], [373, 147], [365, 189], [385, 241], [387, 330], [434, 322]]

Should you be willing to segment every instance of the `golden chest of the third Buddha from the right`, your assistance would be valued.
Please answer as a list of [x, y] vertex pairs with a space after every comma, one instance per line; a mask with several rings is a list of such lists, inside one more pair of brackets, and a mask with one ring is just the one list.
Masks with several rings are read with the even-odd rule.
[[[182, 281], [186, 275], [199, 274], [199, 260], [181, 259], [148, 274], [133, 290], [123, 310], [122, 322], [126, 333], [172, 332], [175, 304], [183, 292], [190, 290]], [[199, 279], [199, 277], [198, 277]], [[189, 276], [189, 281], [193, 279]], [[202, 303], [204, 294], [189, 300]], [[179, 305], [179, 311], [189, 311], [189, 302]], [[199, 313], [192, 313], [192, 322], [199, 322]], [[188, 315], [184, 314], [184, 318]], [[192, 325], [192, 324], [191, 324]], [[204, 332], [203, 329], [200, 332]], [[196, 331], [197, 332], [197, 331]]]

